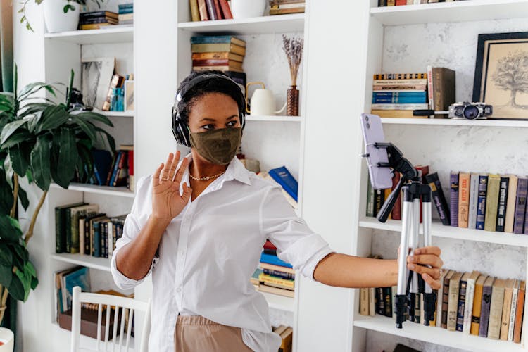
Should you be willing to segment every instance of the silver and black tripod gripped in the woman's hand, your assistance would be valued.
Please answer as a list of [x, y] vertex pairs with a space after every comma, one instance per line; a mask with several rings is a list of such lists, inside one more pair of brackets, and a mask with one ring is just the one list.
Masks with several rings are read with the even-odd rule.
[[[436, 308], [436, 294], [429, 284], [425, 283], [420, 275], [407, 269], [407, 251], [414, 255], [415, 249], [420, 246], [420, 199], [422, 200], [422, 218], [424, 227], [423, 246], [431, 246], [431, 187], [422, 184], [422, 175], [413, 165], [403, 158], [401, 151], [392, 143], [375, 143], [375, 148], [384, 148], [389, 156], [388, 163], [378, 163], [380, 168], [392, 168], [394, 172], [401, 172], [401, 179], [389, 198], [383, 204], [377, 215], [377, 220], [386, 222], [391, 213], [398, 194], [403, 190], [403, 211], [400, 239], [400, 255], [398, 257], [398, 289], [396, 291], [396, 327], [401, 329], [406, 316], [414, 321], [415, 299], [423, 294], [424, 325], [429, 325], [429, 320], [434, 320]], [[418, 295], [416, 297], [416, 295]]]

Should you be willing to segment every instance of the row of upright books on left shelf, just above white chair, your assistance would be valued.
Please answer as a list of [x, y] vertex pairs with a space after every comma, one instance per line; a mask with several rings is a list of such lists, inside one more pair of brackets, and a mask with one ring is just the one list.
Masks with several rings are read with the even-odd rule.
[[56, 253], [80, 253], [111, 258], [122, 237], [127, 215], [108, 217], [98, 204], [84, 202], [55, 208]]

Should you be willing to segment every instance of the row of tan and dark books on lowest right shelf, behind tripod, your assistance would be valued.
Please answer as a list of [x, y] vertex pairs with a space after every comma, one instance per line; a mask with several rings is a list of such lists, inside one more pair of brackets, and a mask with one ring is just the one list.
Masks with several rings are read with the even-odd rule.
[[[436, 312], [429, 326], [489, 339], [520, 343], [526, 282], [499, 279], [481, 272], [444, 270], [436, 291]], [[370, 294], [370, 290], [374, 294]], [[360, 289], [360, 314], [394, 318], [396, 287]], [[408, 320], [423, 323], [423, 296], [416, 295]]]

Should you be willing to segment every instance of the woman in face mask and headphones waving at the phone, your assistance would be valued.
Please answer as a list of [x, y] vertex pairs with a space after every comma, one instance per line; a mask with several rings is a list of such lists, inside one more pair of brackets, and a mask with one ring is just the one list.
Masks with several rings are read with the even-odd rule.
[[[281, 341], [271, 331], [268, 303], [249, 281], [266, 239], [279, 258], [323, 284], [397, 282], [396, 260], [335, 253], [296, 216], [280, 187], [244, 168], [235, 157], [244, 109], [241, 89], [226, 75], [189, 75], [178, 89], [172, 131], [191, 153], [180, 163], [180, 152], [170, 153], [138, 182], [111, 271], [121, 289], [152, 272], [149, 351], [276, 352]], [[439, 288], [439, 248], [416, 254], [408, 268]]]

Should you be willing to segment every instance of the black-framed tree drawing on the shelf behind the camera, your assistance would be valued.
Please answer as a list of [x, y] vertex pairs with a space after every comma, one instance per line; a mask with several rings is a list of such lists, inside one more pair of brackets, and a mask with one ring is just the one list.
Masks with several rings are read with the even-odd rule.
[[489, 118], [528, 120], [528, 32], [479, 34], [472, 99]]

